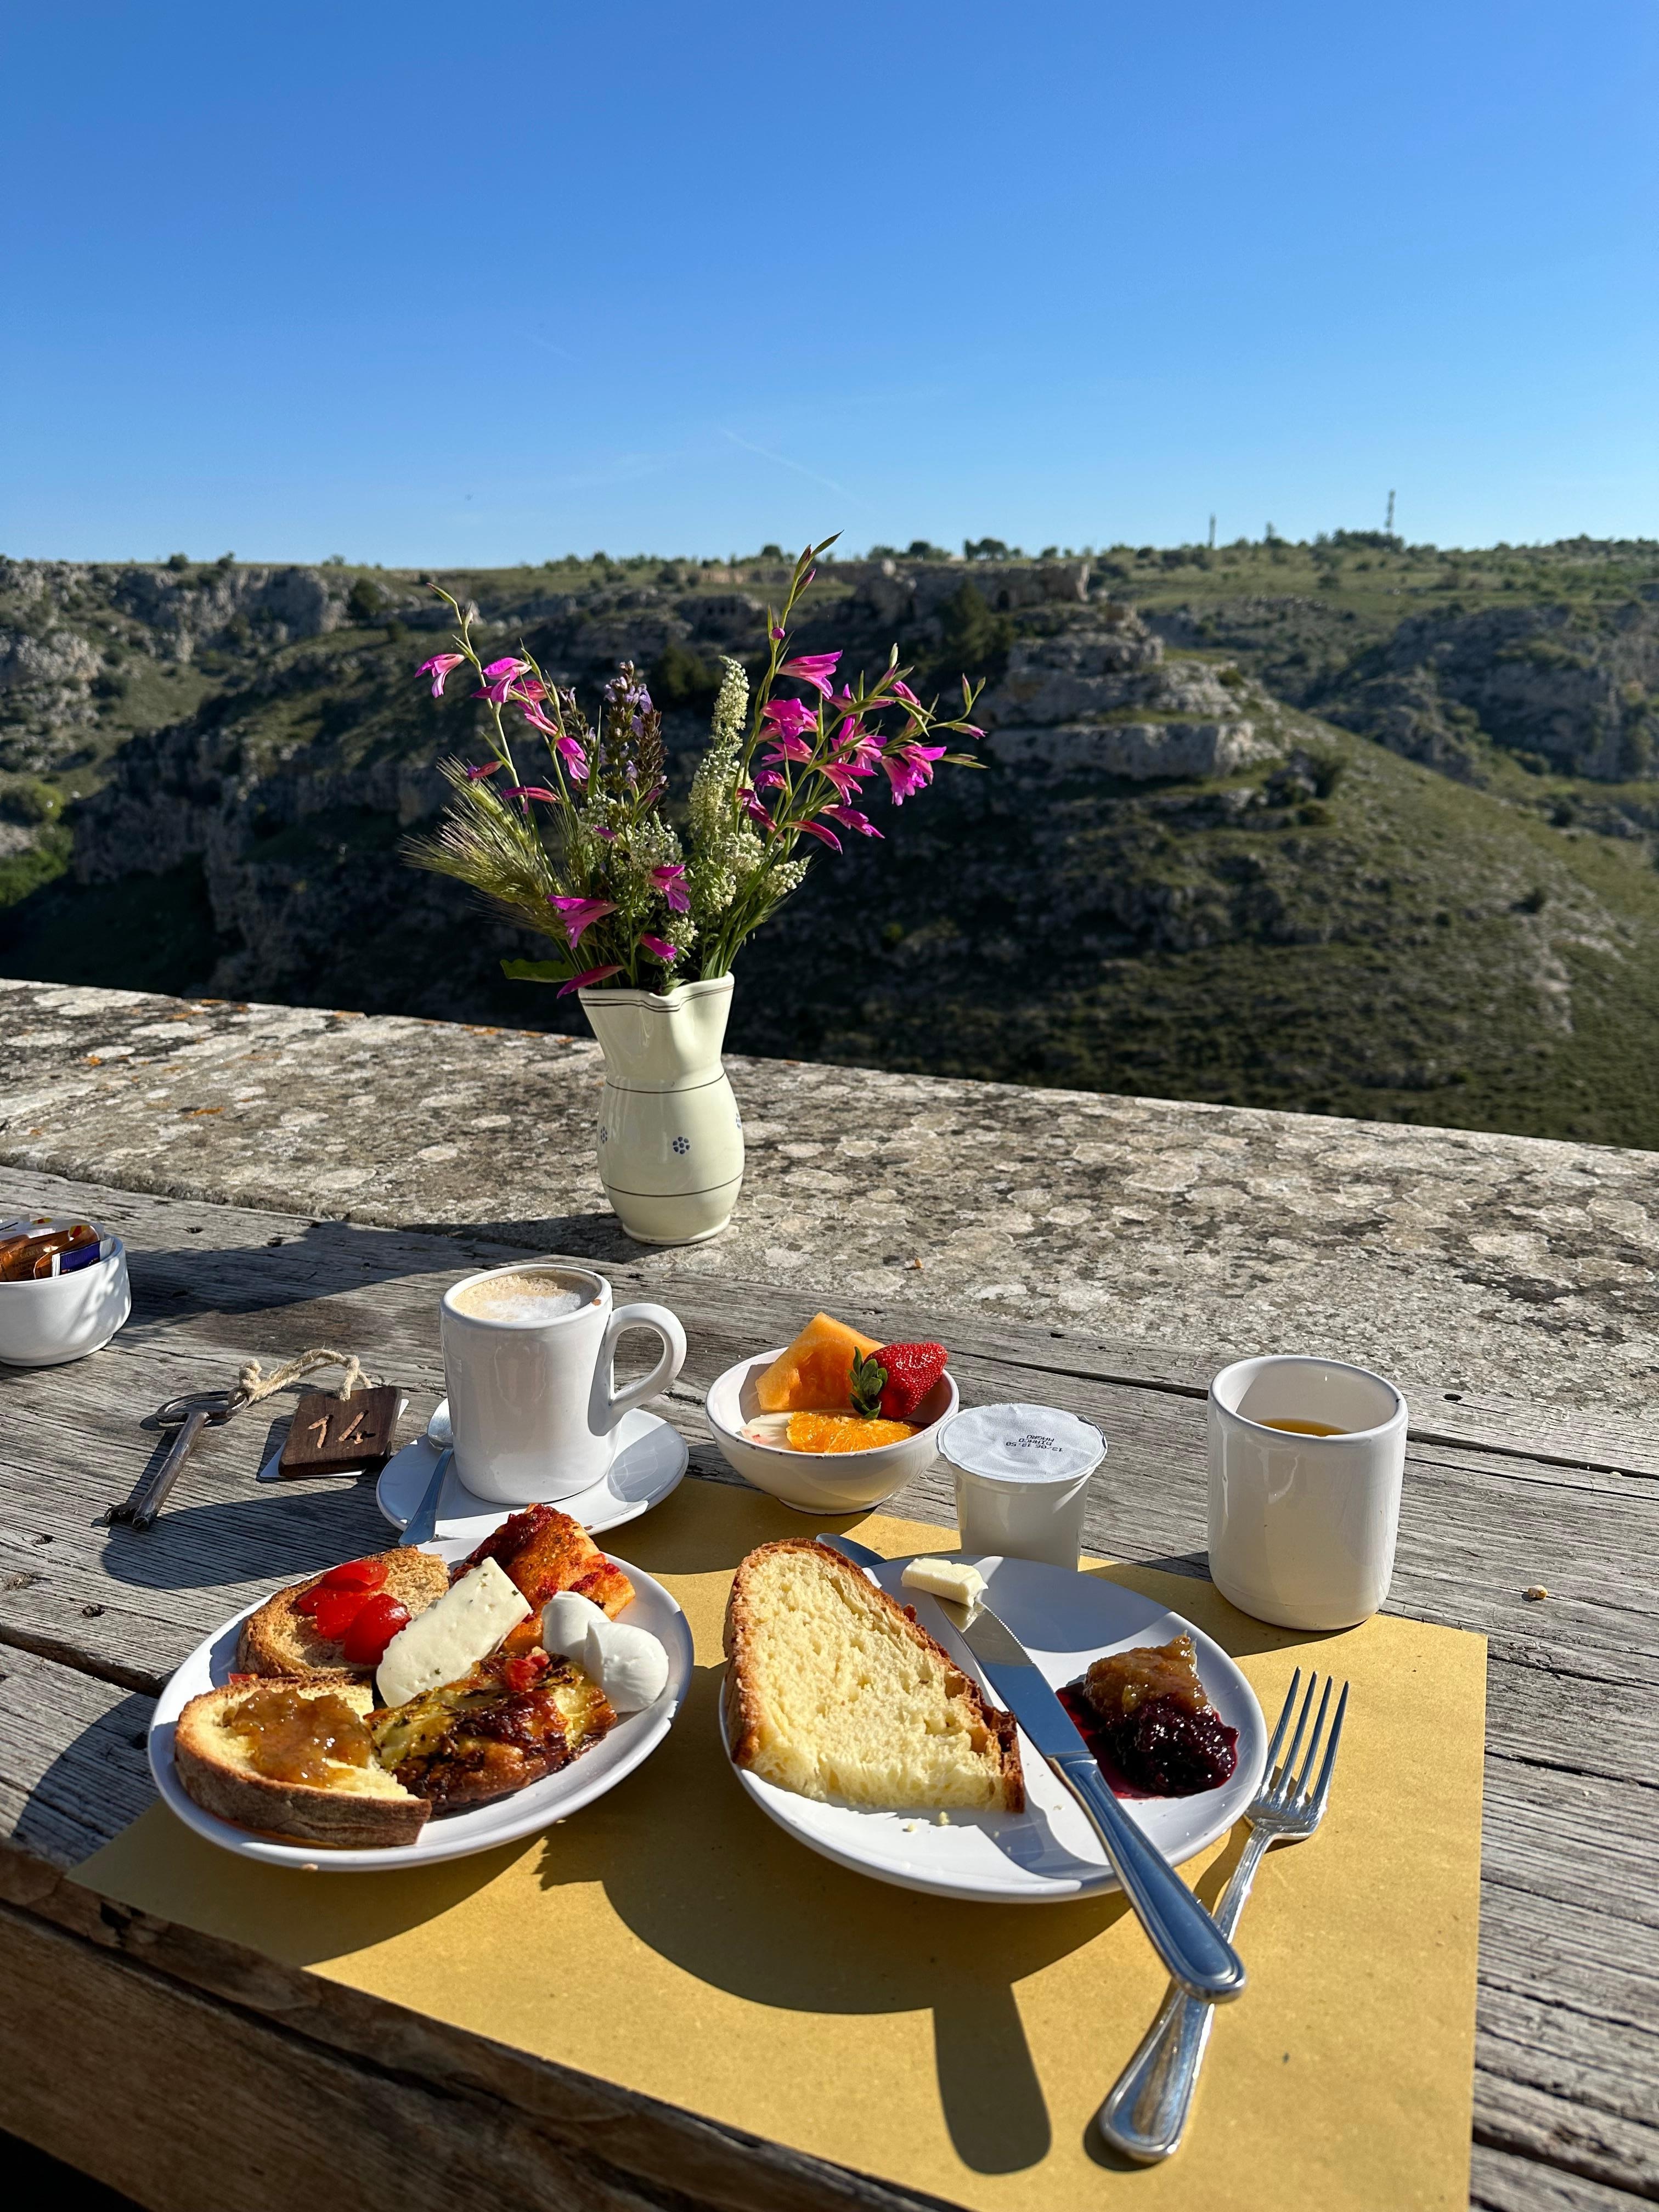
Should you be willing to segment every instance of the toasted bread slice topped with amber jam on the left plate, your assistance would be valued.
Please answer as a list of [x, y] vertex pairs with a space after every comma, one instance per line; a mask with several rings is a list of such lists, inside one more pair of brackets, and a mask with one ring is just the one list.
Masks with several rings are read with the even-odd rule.
[[[301, 1703], [338, 1699], [358, 1721], [374, 1692], [352, 1681], [230, 1681], [223, 1690], [192, 1697], [173, 1732], [173, 1763], [188, 1796], [204, 1812], [265, 1836], [316, 1843], [325, 1849], [387, 1849], [414, 1843], [431, 1807], [411, 1796], [374, 1756], [374, 1739], [363, 1730], [367, 1759], [323, 1759], [323, 1781], [279, 1781], [261, 1774], [259, 1732], [237, 1728], [239, 1710], [261, 1692], [292, 1690]], [[334, 1730], [338, 1739], [338, 1728]], [[349, 1734], [349, 1732], [347, 1732]], [[270, 1739], [265, 1739], [270, 1741]]]

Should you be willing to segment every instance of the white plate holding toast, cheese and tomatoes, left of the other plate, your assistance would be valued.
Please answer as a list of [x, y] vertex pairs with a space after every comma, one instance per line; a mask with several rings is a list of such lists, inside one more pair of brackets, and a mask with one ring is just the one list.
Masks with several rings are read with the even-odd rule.
[[[453, 1566], [456, 1559], [467, 1557], [471, 1544], [465, 1537], [451, 1537], [425, 1544], [422, 1551], [436, 1551], [440, 1559]], [[148, 1743], [155, 1787], [197, 1836], [206, 1836], [208, 1843], [234, 1851], [237, 1858], [257, 1858], [268, 1867], [312, 1867], [323, 1874], [378, 1874], [385, 1867], [429, 1867], [440, 1858], [471, 1858], [473, 1851], [491, 1851], [498, 1843], [515, 1843], [520, 1836], [533, 1836], [538, 1829], [551, 1827], [553, 1820], [564, 1820], [568, 1814], [591, 1805], [606, 1790], [615, 1790], [624, 1774], [633, 1774], [641, 1761], [650, 1759], [675, 1725], [675, 1714], [686, 1703], [692, 1674], [692, 1639], [686, 1615], [650, 1575], [644, 1575], [637, 1566], [628, 1566], [626, 1559], [617, 1559], [617, 1566], [635, 1588], [633, 1604], [624, 1606], [617, 1617], [637, 1628], [648, 1628], [668, 1652], [668, 1688], [664, 1694], [644, 1712], [626, 1714], [591, 1752], [582, 1752], [568, 1767], [549, 1774], [540, 1783], [531, 1783], [529, 1790], [518, 1790], [493, 1805], [476, 1805], [471, 1812], [434, 1814], [409, 1847], [325, 1851], [307, 1843], [279, 1843], [274, 1836], [257, 1836], [252, 1829], [219, 1820], [215, 1814], [204, 1812], [195, 1798], [186, 1796], [179, 1772], [173, 1765], [173, 1725], [192, 1697], [230, 1681], [237, 1663], [237, 1635], [254, 1606], [243, 1606], [234, 1619], [197, 1644], [161, 1692], [155, 1719], [150, 1721]]]

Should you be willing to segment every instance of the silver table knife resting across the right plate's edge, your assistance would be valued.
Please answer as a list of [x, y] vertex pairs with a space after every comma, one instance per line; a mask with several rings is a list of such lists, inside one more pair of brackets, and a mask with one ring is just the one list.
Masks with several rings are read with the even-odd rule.
[[[845, 1535], [818, 1537], [858, 1566], [885, 1566], [880, 1553]], [[1130, 1820], [1099, 1772], [1077, 1728], [1048, 1681], [1033, 1666], [1024, 1644], [980, 1599], [958, 1635], [980, 1663], [980, 1672], [1042, 1752], [1060, 1781], [1082, 1805], [1106, 1847], [1113, 1874], [1146, 1929], [1170, 1975], [1194, 1997], [1225, 2004], [1245, 1986], [1243, 1960], [1199, 1905], [1168, 1858]]]

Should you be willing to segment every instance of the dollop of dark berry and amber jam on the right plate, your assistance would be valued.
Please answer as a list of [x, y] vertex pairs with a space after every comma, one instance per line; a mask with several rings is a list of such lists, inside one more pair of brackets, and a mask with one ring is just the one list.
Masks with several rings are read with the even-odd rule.
[[1197, 1796], [1239, 1765], [1239, 1732], [1203, 1694], [1192, 1637], [1097, 1659], [1062, 1703], [1119, 1796]]

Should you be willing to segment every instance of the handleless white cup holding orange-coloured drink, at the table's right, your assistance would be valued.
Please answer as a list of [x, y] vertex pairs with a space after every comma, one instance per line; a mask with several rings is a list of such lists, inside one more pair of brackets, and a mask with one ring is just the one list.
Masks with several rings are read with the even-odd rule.
[[1367, 1367], [1234, 1360], [1210, 1385], [1210, 1579], [1281, 1628], [1352, 1628], [1389, 1595], [1407, 1405]]

